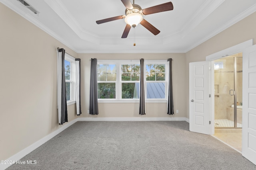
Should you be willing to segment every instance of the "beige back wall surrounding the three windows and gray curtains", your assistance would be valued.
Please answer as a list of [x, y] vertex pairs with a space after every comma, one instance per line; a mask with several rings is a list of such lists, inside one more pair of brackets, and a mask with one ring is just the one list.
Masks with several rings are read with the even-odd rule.
[[[82, 115], [81, 117], [186, 117], [186, 107], [184, 106], [185, 88], [185, 54], [78, 54], [81, 59], [82, 80]], [[179, 110], [178, 114], [167, 115], [166, 103], [146, 103], [146, 115], [139, 115], [138, 103], [99, 103], [99, 115], [89, 115], [89, 82], [90, 82], [90, 59], [169, 59], [172, 58], [174, 110]], [[83, 75], [84, 74], [84, 75]]]

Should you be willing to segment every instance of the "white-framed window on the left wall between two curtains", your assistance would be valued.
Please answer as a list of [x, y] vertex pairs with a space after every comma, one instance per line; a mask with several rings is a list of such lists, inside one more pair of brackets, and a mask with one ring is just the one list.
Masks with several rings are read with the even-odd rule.
[[65, 84], [66, 84], [66, 100], [67, 104], [75, 103], [75, 82], [74, 82], [74, 68], [75, 58], [65, 53]]

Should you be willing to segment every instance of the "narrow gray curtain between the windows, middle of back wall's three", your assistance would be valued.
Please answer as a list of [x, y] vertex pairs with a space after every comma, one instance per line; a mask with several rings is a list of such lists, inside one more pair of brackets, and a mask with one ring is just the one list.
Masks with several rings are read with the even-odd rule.
[[140, 59], [140, 115], [145, 115], [144, 59]]

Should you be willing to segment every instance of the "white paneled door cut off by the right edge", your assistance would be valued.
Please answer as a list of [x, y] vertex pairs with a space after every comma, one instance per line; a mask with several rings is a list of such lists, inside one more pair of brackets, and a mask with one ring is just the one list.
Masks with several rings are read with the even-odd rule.
[[256, 45], [243, 51], [242, 155], [256, 164]]

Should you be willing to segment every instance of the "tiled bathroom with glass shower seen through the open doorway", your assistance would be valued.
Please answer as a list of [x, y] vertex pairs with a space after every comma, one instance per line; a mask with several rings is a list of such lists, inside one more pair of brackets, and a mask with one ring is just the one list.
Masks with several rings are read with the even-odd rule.
[[242, 53], [214, 61], [214, 136], [242, 151]]

